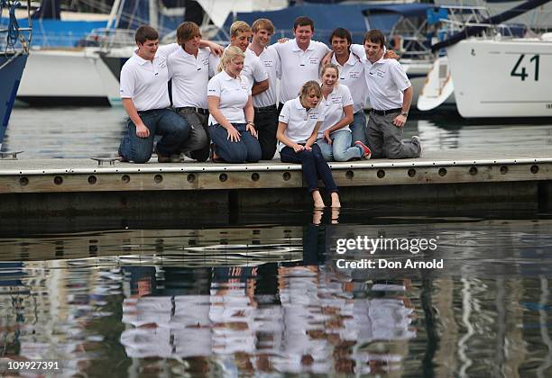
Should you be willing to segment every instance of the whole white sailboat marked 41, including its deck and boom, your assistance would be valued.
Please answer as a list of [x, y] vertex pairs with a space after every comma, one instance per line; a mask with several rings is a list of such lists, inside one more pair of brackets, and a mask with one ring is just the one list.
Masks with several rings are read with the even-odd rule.
[[511, 26], [498, 24], [545, 3], [528, 1], [470, 20], [463, 31], [434, 45], [434, 50], [446, 49], [447, 57], [428, 76], [420, 110], [437, 107], [454, 88], [458, 112], [465, 118], [552, 117], [547, 80], [552, 76], [552, 34], [519, 38]]

